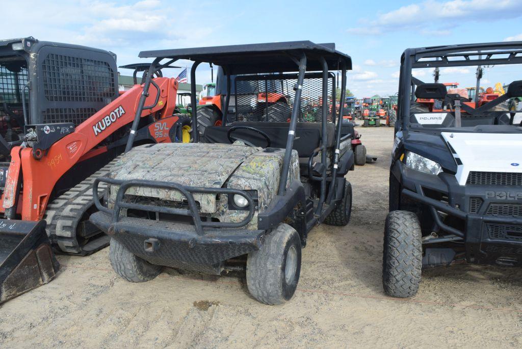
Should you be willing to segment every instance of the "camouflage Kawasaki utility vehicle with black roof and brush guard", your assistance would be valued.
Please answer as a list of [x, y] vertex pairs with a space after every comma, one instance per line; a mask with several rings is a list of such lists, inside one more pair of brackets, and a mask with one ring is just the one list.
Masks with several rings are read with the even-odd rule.
[[[289, 300], [308, 232], [322, 222], [343, 226], [350, 219], [345, 175], [354, 156], [351, 135], [341, 136], [343, 106], [336, 111], [332, 103], [336, 83], [329, 72], [342, 70], [344, 100], [350, 57], [334, 44], [310, 41], [146, 51], [140, 57], [155, 57], [144, 94], [156, 70], [176, 60], [194, 61], [192, 82], [201, 62], [220, 66], [222, 122], [207, 126], [198, 139], [199, 111], [192, 108], [194, 143], [136, 147], [96, 181], [94, 191], [100, 182], [109, 191], [106, 205], [97, 200], [100, 212], [90, 219], [111, 236], [114, 270], [132, 282], [151, 280], [162, 266], [246, 272], [248, 290], [259, 301]], [[284, 96], [286, 108], [269, 102], [273, 94]]]

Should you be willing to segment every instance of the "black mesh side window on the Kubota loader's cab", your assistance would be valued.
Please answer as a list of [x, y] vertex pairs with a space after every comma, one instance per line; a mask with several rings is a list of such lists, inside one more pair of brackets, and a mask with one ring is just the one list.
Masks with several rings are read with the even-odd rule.
[[50, 53], [42, 63], [45, 98], [51, 102], [104, 102], [115, 94], [109, 63]]

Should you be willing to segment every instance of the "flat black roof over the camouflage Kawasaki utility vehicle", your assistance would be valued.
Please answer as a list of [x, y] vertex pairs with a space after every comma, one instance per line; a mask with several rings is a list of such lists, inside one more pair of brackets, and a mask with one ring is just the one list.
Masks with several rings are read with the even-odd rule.
[[339, 61], [352, 68], [349, 55], [336, 51], [334, 43], [316, 44], [311, 41], [288, 41], [246, 45], [210, 46], [192, 49], [142, 51], [141, 58], [165, 58], [207, 62], [228, 67], [231, 74], [296, 72], [298, 66], [291, 59], [306, 53], [307, 71], [322, 71], [318, 57], [323, 56], [329, 70], [337, 70]]

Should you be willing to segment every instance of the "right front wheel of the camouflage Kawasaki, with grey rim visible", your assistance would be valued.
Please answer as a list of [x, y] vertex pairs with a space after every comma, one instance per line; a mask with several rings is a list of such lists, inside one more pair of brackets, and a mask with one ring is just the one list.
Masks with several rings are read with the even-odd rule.
[[248, 254], [246, 285], [262, 303], [282, 304], [292, 298], [301, 273], [301, 238], [288, 224], [280, 223], [265, 235], [258, 251]]

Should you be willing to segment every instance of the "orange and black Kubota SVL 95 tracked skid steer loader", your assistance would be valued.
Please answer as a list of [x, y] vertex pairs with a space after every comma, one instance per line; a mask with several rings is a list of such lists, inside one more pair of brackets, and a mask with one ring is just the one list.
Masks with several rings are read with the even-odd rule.
[[52, 250], [108, 245], [88, 220], [94, 179], [126, 145], [179, 142], [190, 124], [172, 115], [178, 83], [162, 77], [167, 66], [119, 95], [111, 52], [0, 41], [0, 303], [52, 280]]

